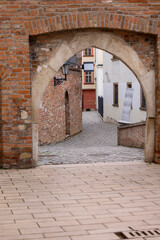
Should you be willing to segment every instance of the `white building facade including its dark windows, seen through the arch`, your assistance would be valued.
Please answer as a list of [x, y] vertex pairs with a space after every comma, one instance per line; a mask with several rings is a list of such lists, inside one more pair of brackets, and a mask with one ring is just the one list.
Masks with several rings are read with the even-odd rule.
[[123, 62], [99, 49], [96, 49], [95, 65], [97, 108], [98, 101], [103, 99], [103, 120], [121, 120], [126, 88], [132, 88], [134, 93], [129, 122], [145, 121], [145, 98], [132, 71]]

